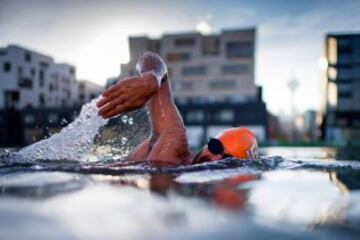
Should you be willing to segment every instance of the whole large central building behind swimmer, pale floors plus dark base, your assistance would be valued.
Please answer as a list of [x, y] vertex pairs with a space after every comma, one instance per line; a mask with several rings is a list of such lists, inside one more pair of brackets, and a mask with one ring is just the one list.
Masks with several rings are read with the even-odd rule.
[[[264, 141], [267, 114], [261, 88], [255, 85], [255, 43], [255, 28], [217, 35], [130, 37], [130, 61], [121, 65], [120, 79], [136, 74], [136, 61], [145, 51], [156, 52], [168, 66], [173, 96], [192, 147], [234, 126], [249, 127]], [[108, 85], [116, 80], [109, 79]]]

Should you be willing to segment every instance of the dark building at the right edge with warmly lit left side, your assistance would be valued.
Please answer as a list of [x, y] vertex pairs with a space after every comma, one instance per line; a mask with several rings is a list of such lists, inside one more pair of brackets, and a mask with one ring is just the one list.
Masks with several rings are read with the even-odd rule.
[[335, 143], [359, 143], [360, 33], [328, 34], [324, 54], [324, 136]]

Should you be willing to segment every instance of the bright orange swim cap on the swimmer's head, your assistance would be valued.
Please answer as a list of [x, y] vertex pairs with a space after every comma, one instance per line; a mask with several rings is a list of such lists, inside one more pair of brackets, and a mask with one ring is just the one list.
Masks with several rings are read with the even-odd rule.
[[255, 134], [247, 128], [229, 128], [219, 133], [216, 138], [222, 143], [224, 152], [235, 158], [258, 158], [259, 149]]

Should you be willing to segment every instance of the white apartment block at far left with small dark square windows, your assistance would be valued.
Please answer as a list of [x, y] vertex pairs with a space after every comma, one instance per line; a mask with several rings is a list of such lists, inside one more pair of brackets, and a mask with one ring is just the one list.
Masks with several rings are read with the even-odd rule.
[[0, 109], [70, 107], [78, 102], [75, 67], [15, 45], [0, 48]]

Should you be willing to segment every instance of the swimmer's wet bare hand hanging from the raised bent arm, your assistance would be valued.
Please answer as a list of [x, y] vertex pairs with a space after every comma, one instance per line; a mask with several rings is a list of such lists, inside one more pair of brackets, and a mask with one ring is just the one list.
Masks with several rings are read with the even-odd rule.
[[96, 104], [98, 114], [111, 118], [141, 108], [159, 87], [157, 78], [150, 73], [122, 80], [103, 92], [103, 99]]

